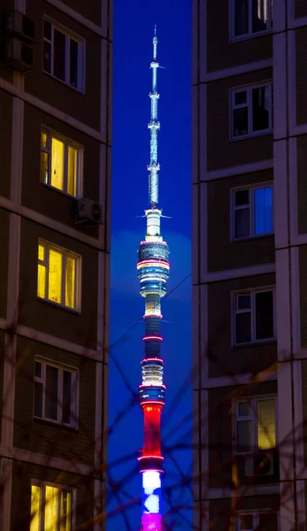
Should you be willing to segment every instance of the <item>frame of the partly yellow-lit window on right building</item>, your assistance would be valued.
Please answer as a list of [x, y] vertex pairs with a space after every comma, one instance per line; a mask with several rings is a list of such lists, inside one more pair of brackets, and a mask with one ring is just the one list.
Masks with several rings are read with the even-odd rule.
[[[276, 448], [278, 446], [278, 439], [277, 439], [277, 436], [278, 436], [278, 432], [277, 432], [277, 395], [276, 394], [269, 394], [269, 395], [256, 395], [256, 396], [243, 396], [240, 398], [240, 400], [238, 399], [235, 399], [233, 400], [233, 412], [234, 412], [234, 415], [233, 415], [233, 449], [234, 449], [234, 455], [236, 456], [252, 456], [252, 455], [255, 455], [255, 453], [257, 452], [264, 452], [265, 451], [270, 451], [269, 449], [268, 450], [261, 450], [261, 449], [258, 449], [257, 447], [257, 435], [258, 435], [258, 424], [257, 424], [257, 404], [258, 402], [261, 402], [261, 401], [265, 401], [265, 400], [274, 400], [274, 415], [275, 415], [275, 447]], [[238, 415], [238, 409], [239, 409], [239, 404], [243, 404], [245, 402], [250, 402], [250, 409], [251, 409], [251, 413], [249, 415], [244, 415], [244, 416], [241, 416], [240, 418], [243, 419], [243, 420], [251, 420], [253, 425], [252, 425], [252, 430], [253, 430], [253, 446], [252, 446], [252, 449], [250, 451], [238, 451], [238, 432], [237, 432], [237, 426], [238, 426], [238, 422], [240, 422], [240, 420], [238, 420], [239, 418], [239, 415]]]

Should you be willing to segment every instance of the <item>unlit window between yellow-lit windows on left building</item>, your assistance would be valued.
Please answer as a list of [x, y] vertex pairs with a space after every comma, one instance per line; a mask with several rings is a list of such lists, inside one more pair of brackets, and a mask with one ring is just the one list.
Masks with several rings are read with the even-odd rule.
[[34, 416], [76, 427], [76, 370], [35, 359]]

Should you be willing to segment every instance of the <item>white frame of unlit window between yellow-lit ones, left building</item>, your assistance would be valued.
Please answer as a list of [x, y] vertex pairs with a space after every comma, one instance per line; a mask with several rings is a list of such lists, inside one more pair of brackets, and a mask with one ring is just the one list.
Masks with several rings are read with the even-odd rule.
[[[50, 422], [52, 424], [57, 424], [60, 426], [70, 427], [75, 430], [78, 429], [78, 418], [79, 418], [79, 371], [76, 367], [66, 366], [64, 364], [58, 364], [53, 362], [50, 359], [42, 358], [35, 356], [35, 362], [38, 362], [42, 365], [42, 376], [35, 375], [35, 365], [34, 365], [34, 383], [42, 384], [42, 417], [35, 415], [35, 388], [33, 394], [33, 418], [38, 420], [43, 420], [45, 422]], [[58, 419], [50, 419], [45, 416], [45, 397], [46, 397], [46, 367], [51, 366], [58, 369]], [[72, 373], [72, 409], [71, 409], [71, 418], [72, 422], [63, 422], [63, 373]], [[61, 420], [60, 420], [61, 419]]]

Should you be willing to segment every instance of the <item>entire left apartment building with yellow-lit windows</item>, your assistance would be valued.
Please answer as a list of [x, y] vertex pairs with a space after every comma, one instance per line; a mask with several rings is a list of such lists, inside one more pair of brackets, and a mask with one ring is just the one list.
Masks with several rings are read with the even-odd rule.
[[0, 528], [104, 529], [112, 3], [0, 26]]

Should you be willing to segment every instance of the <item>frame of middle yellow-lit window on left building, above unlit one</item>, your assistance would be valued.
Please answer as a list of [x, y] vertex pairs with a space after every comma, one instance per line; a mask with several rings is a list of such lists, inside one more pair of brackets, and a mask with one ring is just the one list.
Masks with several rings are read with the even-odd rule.
[[[39, 246], [42, 245], [45, 249], [45, 256], [44, 259], [41, 260], [39, 258]], [[49, 288], [49, 267], [50, 267], [50, 260], [49, 260], [49, 254], [50, 250], [55, 250], [59, 253], [61, 253], [65, 257], [70, 257], [75, 259], [76, 269], [75, 269], [75, 275], [74, 275], [74, 300], [75, 304], [74, 307], [71, 308], [70, 306], [66, 306], [65, 303], [57, 303], [56, 301], [52, 301], [48, 298], [48, 288]], [[44, 266], [46, 268], [46, 281], [45, 281], [45, 297], [38, 296], [37, 294], [37, 282], [38, 282], [38, 266]], [[61, 300], [65, 301], [65, 259], [62, 260], [62, 286], [61, 286]], [[64, 279], [64, 280], [63, 280]], [[37, 268], [36, 268], [36, 298], [39, 301], [43, 301], [47, 304], [52, 304], [58, 308], [62, 308], [68, 312], [73, 313], [81, 313], [81, 281], [82, 281], [82, 257], [81, 255], [78, 255], [77, 253], [64, 249], [63, 247], [59, 247], [55, 243], [47, 242], [46, 240], [42, 240], [39, 238], [38, 245], [37, 245]]]

